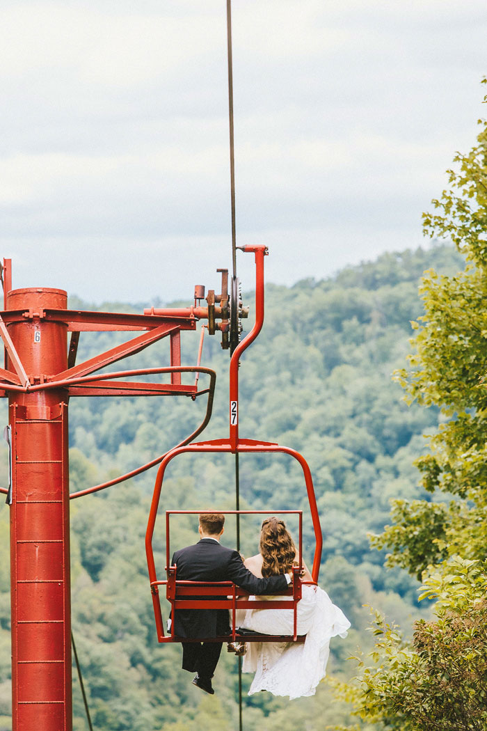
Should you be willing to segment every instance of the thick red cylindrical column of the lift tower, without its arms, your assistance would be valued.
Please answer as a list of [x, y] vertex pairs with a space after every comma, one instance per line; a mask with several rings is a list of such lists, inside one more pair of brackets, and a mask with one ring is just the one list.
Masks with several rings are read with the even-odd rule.
[[[31, 383], [67, 367], [67, 325], [43, 317], [66, 308], [62, 289], [15, 289], [8, 326]], [[72, 731], [67, 393], [9, 396], [12, 430], [13, 731]]]

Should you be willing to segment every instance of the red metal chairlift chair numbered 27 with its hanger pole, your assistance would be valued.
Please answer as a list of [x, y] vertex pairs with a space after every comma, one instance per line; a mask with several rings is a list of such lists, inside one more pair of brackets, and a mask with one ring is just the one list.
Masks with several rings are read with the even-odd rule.
[[[194, 444], [187, 444], [183, 447], [176, 447], [171, 452], [168, 452], [164, 457], [164, 460], [159, 466], [156, 485], [154, 486], [153, 499], [150, 507], [150, 515], [147, 523], [147, 532], [145, 536], [145, 550], [147, 553], [147, 566], [149, 570], [150, 579], [150, 590], [152, 592], [154, 616], [156, 618], [156, 629], [157, 637], [160, 643], [175, 643], [181, 642], [182, 637], [174, 635], [172, 629], [171, 634], [166, 635], [164, 633], [163, 619], [161, 613], [161, 602], [159, 598], [159, 586], [166, 586], [166, 599], [172, 606], [172, 616], [177, 612], [178, 609], [191, 608], [191, 609], [223, 609], [227, 608], [231, 612], [231, 635], [226, 637], [198, 637], [194, 638], [192, 642], [221, 642], [221, 641], [235, 641], [244, 640], [245, 642], [258, 642], [263, 641], [265, 638], [266, 642], [283, 642], [283, 641], [304, 641], [304, 637], [297, 635], [296, 617], [297, 617], [297, 605], [299, 599], [301, 599], [302, 593], [302, 580], [300, 579], [300, 572], [302, 567], [302, 511], [300, 510], [279, 510], [279, 514], [291, 513], [299, 516], [299, 566], [294, 568], [294, 580], [291, 586], [287, 590], [280, 593], [283, 599], [277, 599], [269, 602], [265, 600], [250, 601], [248, 594], [242, 589], [238, 588], [231, 581], [225, 582], [196, 582], [196, 581], [179, 581], [177, 580], [176, 567], [169, 565], [170, 562], [170, 543], [169, 543], [169, 516], [175, 514], [184, 513], [201, 513], [201, 512], [217, 512], [216, 510], [169, 510], [166, 512], [166, 571], [167, 579], [158, 580], [156, 572], [156, 564], [154, 561], [153, 554], [153, 534], [156, 525], [156, 517], [158, 512], [159, 500], [161, 497], [161, 488], [164, 480], [164, 473], [166, 466], [172, 461], [177, 455], [185, 453], [261, 453], [261, 452], [281, 452], [283, 454], [290, 455], [302, 467], [304, 474], [304, 482], [307, 489], [307, 498], [310, 505], [310, 512], [312, 518], [312, 526], [315, 533], [315, 554], [312, 563], [312, 583], [318, 582], [318, 573], [321, 562], [321, 550], [323, 545], [323, 537], [321, 533], [321, 525], [318, 517], [318, 507], [316, 505], [315, 491], [312, 484], [312, 477], [310, 468], [304, 457], [296, 452], [296, 450], [290, 447], [282, 447], [274, 442], [261, 442], [254, 439], [239, 439], [238, 433], [238, 368], [239, 368], [239, 357], [242, 355], [245, 349], [248, 348], [258, 336], [264, 322], [264, 256], [267, 253], [266, 247], [262, 245], [256, 246], [244, 246], [242, 251], [253, 252], [256, 257], [256, 322], [253, 329], [250, 331], [248, 336], [240, 342], [234, 349], [233, 355], [230, 361], [230, 404], [229, 404], [229, 421], [230, 421], [230, 433], [227, 439], [213, 439], [208, 442], [196, 442]], [[265, 513], [269, 514], [268, 510], [218, 510], [231, 515], [242, 515], [242, 514], [258, 514]], [[276, 512], [276, 511], [275, 511]], [[189, 599], [188, 597], [191, 597]], [[294, 611], [294, 633], [293, 635], [261, 635], [258, 633], [245, 632], [244, 635], [240, 635], [237, 632], [235, 613], [237, 609], [292, 609]], [[174, 621], [172, 627], [174, 627]], [[188, 641], [184, 638], [185, 641]]]

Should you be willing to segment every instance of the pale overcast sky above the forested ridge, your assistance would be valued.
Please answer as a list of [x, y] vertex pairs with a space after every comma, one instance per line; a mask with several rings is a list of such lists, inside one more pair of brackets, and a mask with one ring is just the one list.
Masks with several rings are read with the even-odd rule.
[[[233, 0], [237, 243], [292, 284], [422, 241], [485, 115], [485, 0]], [[190, 299], [231, 267], [225, 0], [0, 0], [15, 287]], [[244, 287], [250, 257], [239, 256]]]

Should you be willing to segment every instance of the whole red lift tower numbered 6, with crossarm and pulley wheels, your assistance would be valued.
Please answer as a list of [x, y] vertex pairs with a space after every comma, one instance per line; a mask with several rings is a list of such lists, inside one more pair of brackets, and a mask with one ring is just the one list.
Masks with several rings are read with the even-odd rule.
[[[228, 273], [221, 272], [221, 295], [210, 290], [206, 306], [201, 306], [204, 287], [196, 287], [192, 307], [118, 314], [69, 310], [62, 289], [12, 289], [11, 261], [4, 260], [0, 336], [6, 358], [5, 368], [0, 368], [0, 395], [9, 399], [10, 484], [8, 491], [2, 491], [7, 492], [10, 506], [12, 731], [72, 731], [69, 397], [185, 395], [195, 399], [207, 393], [206, 417], [182, 444], [193, 439], [210, 418], [215, 374], [199, 364], [181, 366], [181, 330], [195, 330], [197, 320], [207, 319], [210, 333], [222, 331], [226, 348], [232, 338], [238, 341], [237, 330], [231, 333], [231, 319], [237, 322], [237, 316], [245, 316], [238, 286], [232, 283], [229, 297]], [[142, 334], [75, 364], [80, 333], [97, 330]], [[170, 367], [97, 373], [165, 337], [170, 340]], [[184, 385], [181, 374], [187, 371], [210, 375], [210, 386], [198, 390], [197, 378], [195, 385]], [[167, 383], [131, 380], [164, 373], [170, 374]]]

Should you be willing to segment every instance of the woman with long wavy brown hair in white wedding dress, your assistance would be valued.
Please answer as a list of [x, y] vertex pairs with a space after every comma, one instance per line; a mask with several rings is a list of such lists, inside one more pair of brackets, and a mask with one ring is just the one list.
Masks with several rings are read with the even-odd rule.
[[[245, 566], [256, 576], [283, 574], [291, 570], [296, 558], [293, 539], [283, 520], [267, 518], [262, 523], [260, 553], [247, 558]], [[312, 581], [304, 567], [304, 581]], [[259, 596], [259, 599], [280, 599]], [[292, 609], [248, 609], [237, 612], [242, 629], [264, 635], [292, 635]], [[316, 686], [326, 675], [331, 637], [346, 637], [350, 622], [328, 594], [315, 584], [302, 586], [302, 599], [297, 606], [298, 635], [306, 635], [304, 643], [247, 643], [243, 658], [244, 673], [255, 673], [249, 695], [267, 690], [290, 699], [314, 695]]]

